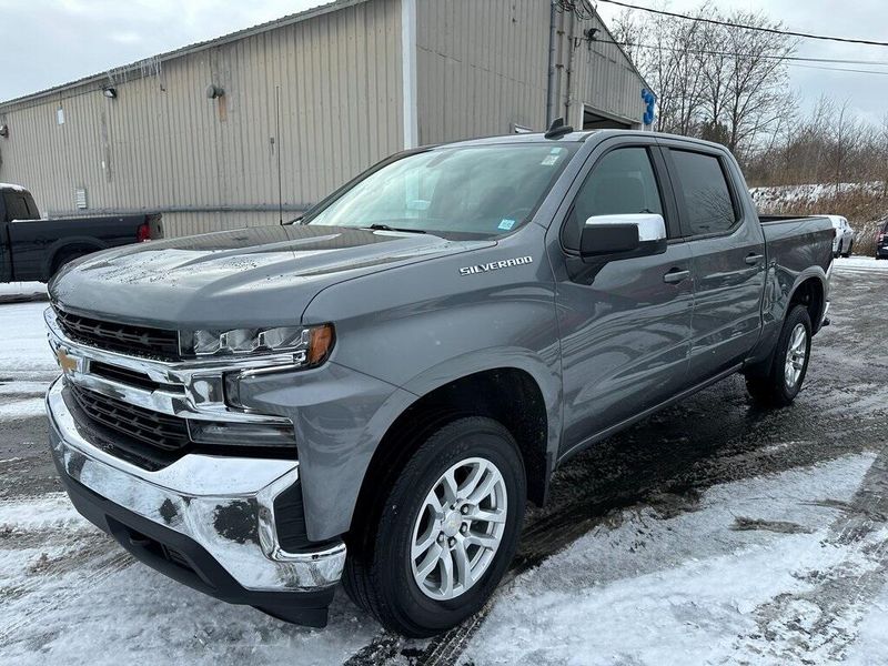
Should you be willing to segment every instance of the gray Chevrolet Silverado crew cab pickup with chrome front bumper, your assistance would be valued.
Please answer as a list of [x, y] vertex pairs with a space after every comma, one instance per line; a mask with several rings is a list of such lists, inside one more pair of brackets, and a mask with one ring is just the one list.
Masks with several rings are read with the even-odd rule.
[[342, 581], [432, 635], [490, 597], [573, 454], [737, 372], [791, 403], [833, 234], [760, 219], [729, 152], [679, 137], [407, 151], [294, 223], [65, 266], [52, 454], [182, 583], [322, 626]]

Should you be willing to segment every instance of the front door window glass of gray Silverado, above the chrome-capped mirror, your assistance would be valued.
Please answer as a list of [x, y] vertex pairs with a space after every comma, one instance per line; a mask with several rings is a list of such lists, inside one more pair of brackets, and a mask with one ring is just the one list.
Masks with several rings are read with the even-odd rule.
[[657, 179], [645, 148], [618, 148], [595, 165], [574, 200], [564, 229], [564, 245], [579, 248], [583, 225], [593, 215], [620, 213], [663, 215]]

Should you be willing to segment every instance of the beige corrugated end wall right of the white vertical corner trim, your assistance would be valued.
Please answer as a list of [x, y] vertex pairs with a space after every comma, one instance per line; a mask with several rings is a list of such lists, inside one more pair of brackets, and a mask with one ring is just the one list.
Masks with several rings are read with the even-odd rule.
[[[549, 2], [547, 0], [417, 0], [420, 142], [505, 134], [515, 124], [545, 129]], [[557, 13], [567, 33], [567, 14]], [[562, 23], [563, 21], [563, 23]], [[598, 28], [591, 48], [583, 30]], [[576, 20], [567, 102], [568, 38], [561, 37], [561, 95], [554, 118], [583, 125], [583, 103], [633, 123], [644, 113], [644, 82], [601, 20]], [[558, 82], [556, 81], [556, 87]]]

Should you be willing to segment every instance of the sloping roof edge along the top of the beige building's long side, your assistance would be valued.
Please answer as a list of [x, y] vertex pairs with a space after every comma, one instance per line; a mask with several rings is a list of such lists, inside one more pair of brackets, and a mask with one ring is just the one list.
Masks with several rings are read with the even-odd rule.
[[75, 81], [70, 81], [68, 83], [62, 83], [60, 85], [53, 85], [52, 88], [47, 88], [38, 92], [31, 92], [29, 94], [13, 98], [11, 100], [6, 100], [0, 102], [0, 111], [6, 110], [7, 107], [18, 105], [21, 104], [22, 102], [29, 102], [32, 100], [39, 100], [56, 93], [61, 93], [65, 90], [70, 90], [81, 85], [87, 85], [89, 83], [109, 83], [110, 77], [112, 74], [113, 77], [115, 77], [113, 79], [113, 83], [121, 83], [133, 79], [141, 79], [147, 73], [153, 73], [154, 63], [174, 60], [183, 56], [189, 56], [191, 53], [195, 53], [199, 51], [212, 49], [213, 47], [218, 47], [221, 44], [231, 43], [241, 39], [245, 39], [248, 37], [252, 37], [254, 34], [260, 34], [262, 32], [269, 32], [278, 28], [283, 28], [284, 26], [299, 23], [300, 21], [305, 21], [307, 19], [319, 17], [325, 13], [339, 11], [346, 7], [362, 4], [367, 1], [369, 0], [333, 0], [332, 2], [327, 2], [326, 4], [321, 4], [320, 7], [313, 7], [312, 9], [306, 9], [305, 11], [287, 14], [280, 19], [268, 21], [266, 23], [260, 23], [258, 26], [253, 26], [252, 28], [244, 28], [243, 30], [238, 30], [236, 32], [230, 32], [229, 34], [223, 34], [222, 37], [216, 37], [214, 39], [209, 39], [201, 42], [194, 42], [193, 44], [181, 47], [173, 51], [167, 51], [165, 53], [161, 53], [159, 56], [151, 56], [149, 58], [143, 58], [142, 60], [138, 60], [130, 64], [111, 68], [98, 74], [91, 74], [89, 77], [83, 77], [82, 79], [77, 79]]

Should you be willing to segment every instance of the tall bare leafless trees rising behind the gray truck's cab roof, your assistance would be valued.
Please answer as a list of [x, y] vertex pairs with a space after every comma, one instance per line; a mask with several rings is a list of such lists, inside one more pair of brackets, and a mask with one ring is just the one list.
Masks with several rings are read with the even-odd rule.
[[[694, 17], [779, 30], [763, 13]], [[624, 11], [614, 34], [654, 87], [658, 129], [719, 141], [743, 157], [775, 140], [791, 112], [786, 68], [796, 41], [759, 30]]]

